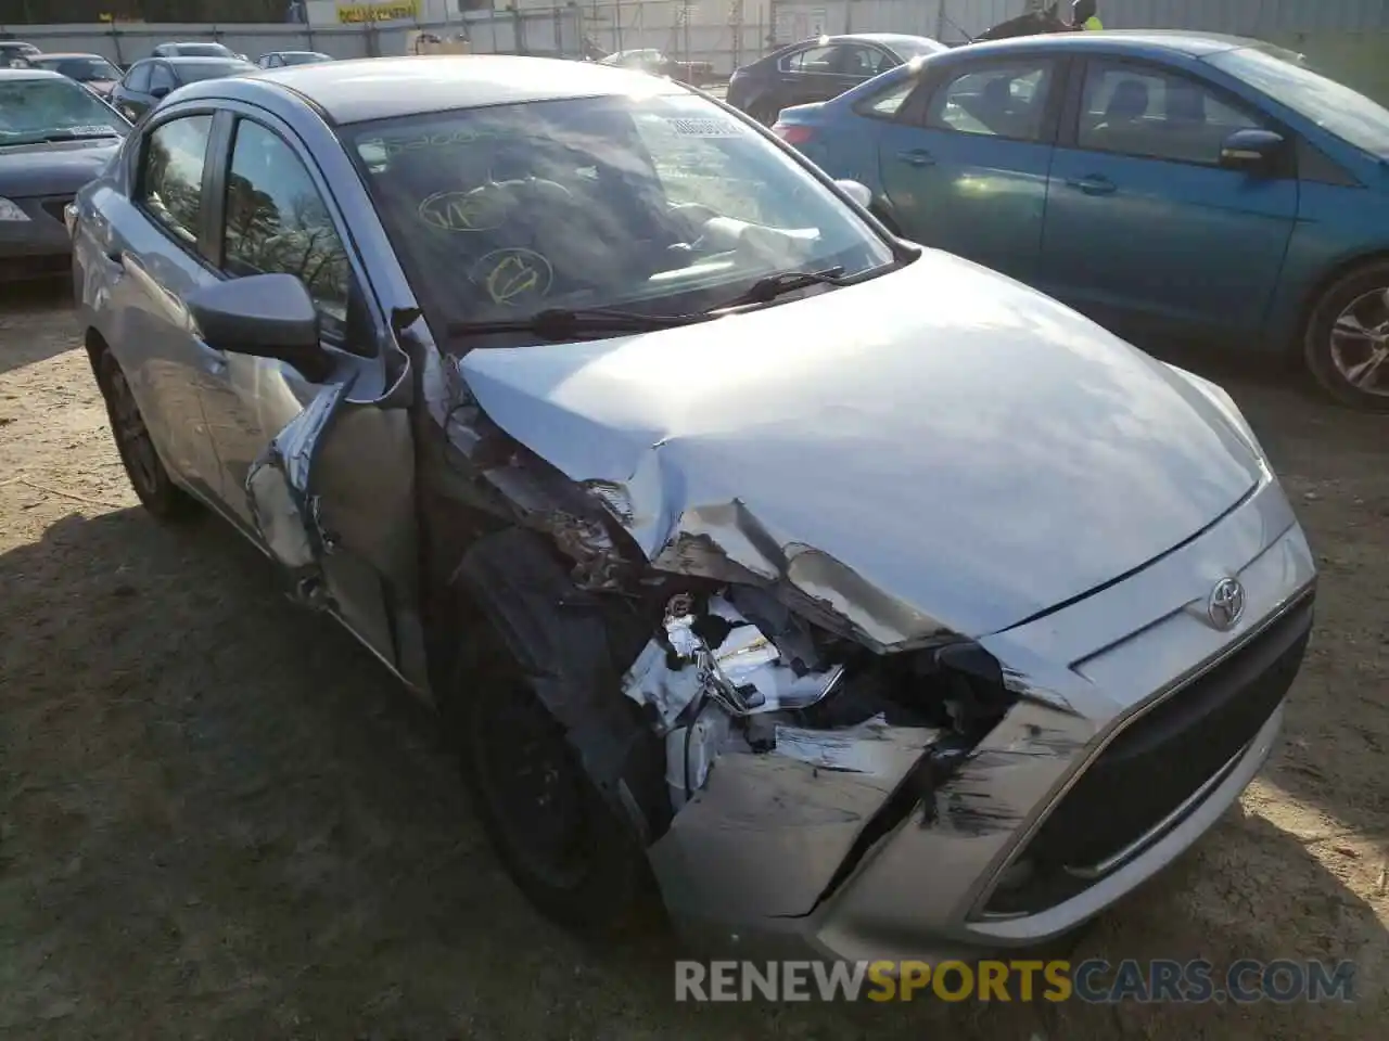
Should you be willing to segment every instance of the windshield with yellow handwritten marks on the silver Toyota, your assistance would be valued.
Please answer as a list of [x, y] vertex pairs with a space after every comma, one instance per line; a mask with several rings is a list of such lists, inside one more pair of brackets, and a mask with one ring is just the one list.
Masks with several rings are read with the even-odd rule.
[[444, 323], [550, 308], [706, 311], [889, 246], [756, 129], [686, 93], [494, 105], [349, 128]]

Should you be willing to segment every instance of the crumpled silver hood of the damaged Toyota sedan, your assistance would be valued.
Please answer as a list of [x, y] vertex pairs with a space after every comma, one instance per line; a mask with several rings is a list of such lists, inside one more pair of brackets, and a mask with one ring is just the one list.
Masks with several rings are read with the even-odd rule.
[[514, 439], [619, 486], [657, 566], [726, 554], [882, 647], [1072, 600], [1211, 525], [1261, 473], [1182, 376], [933, 250], [713, 323], [479, 348], [461, 369]]

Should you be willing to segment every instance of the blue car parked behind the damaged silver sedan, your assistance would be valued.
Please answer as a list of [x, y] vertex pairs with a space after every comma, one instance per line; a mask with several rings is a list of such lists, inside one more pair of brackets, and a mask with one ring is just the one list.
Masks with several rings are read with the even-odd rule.
[[1300, 354], [1389, 411], [1389, 111], [1292, 51], [1097, 32], [960, 47], [775, 132], [897, 233], [1132, 336]]

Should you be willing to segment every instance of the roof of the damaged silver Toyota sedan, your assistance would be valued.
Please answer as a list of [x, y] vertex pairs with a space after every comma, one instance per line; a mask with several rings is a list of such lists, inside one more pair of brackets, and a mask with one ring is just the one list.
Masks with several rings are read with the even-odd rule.
[[254, 94], [264, 90], [288, 90], [317, 105], [336, 124], [356, 124], [450, 108], [650, 93], [653, 89], [686, 93], [676, 83], [596, 61], [411, 54], [263, 69], [256, 76], [194, 83], [183, 87], [181, 97], [254, 100]]

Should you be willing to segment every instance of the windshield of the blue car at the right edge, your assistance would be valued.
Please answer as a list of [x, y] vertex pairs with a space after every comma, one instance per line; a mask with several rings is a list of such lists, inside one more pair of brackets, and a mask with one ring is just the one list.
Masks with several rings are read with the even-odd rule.
[[1207, 61], [1372, 155], [1389, 155], [1389, 110], [1315, 72], [1301, 54], [1258, 44]]

